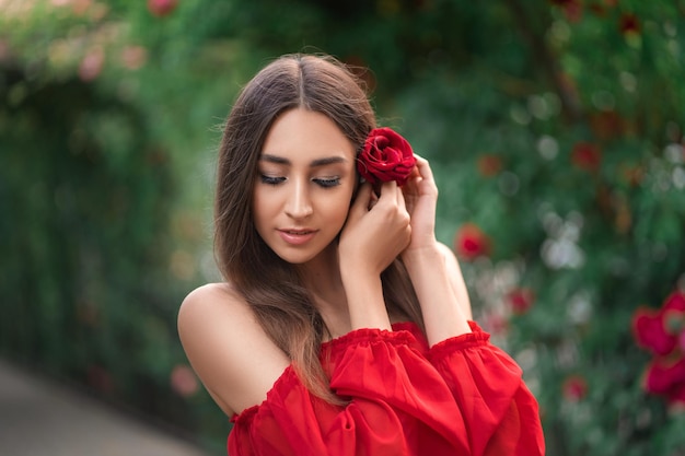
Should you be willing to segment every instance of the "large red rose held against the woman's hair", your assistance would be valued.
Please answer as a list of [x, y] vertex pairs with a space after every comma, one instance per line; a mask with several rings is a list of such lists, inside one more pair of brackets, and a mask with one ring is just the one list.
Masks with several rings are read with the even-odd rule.
[[357, 157], [357, 171], [371, 184], [396, 180], [402, 186], [415, 166], [411, 145], [390, 128], [371, 130]]

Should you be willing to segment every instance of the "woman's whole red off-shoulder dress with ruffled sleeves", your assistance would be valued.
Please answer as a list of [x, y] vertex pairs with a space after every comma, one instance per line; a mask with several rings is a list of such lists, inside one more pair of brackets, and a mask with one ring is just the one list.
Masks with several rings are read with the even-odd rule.
[[544, 455], [521, 369], [471, 327], [430, 349], [408, 323], [324, 343], [330, 388], [349, 404], [312, 396], [289, 366], [264, 402], [231, 419], [229, 455]]

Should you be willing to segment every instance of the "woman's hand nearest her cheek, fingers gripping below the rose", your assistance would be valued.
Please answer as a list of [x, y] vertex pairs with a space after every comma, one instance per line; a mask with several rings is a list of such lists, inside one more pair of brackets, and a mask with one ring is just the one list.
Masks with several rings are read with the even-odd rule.
[[380, 276], [409, 244], [409, 222], [397, 183], [384, 183], [379, 197], [363, 184], [340, 234], [340, 269]]

